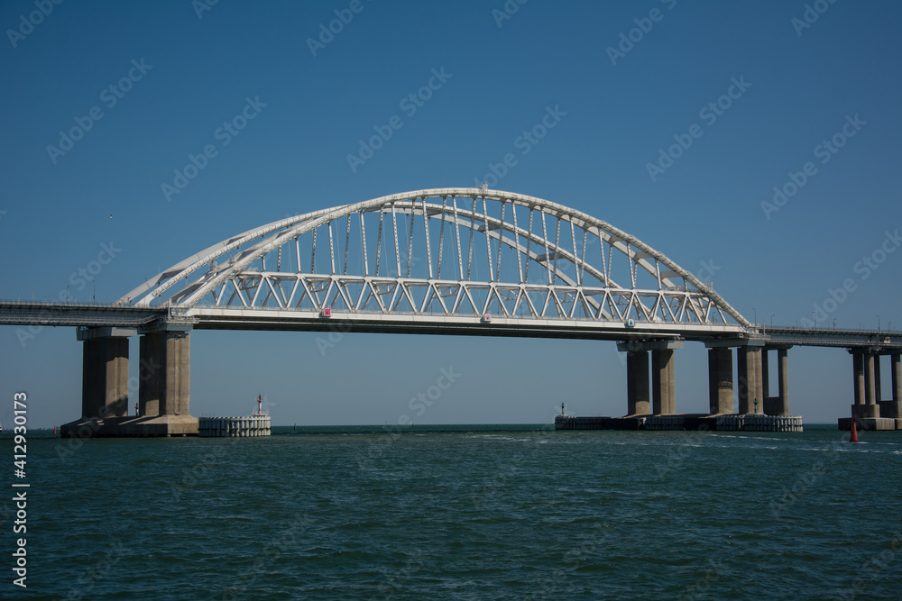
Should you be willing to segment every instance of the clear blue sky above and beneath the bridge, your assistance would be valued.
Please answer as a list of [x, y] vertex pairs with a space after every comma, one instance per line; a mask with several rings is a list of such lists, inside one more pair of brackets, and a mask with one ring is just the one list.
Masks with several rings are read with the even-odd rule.
[[[474, 186], [513, 153], [493, 188], [635, 235], [751, 321], [899, 329], [900, 19], [842, 0], [7, 0], [0, 297], [113, 302], [235, 233]], [[322, 336], [192, 333], [191, 413], [249, 414], [258, 394], [276, 424], [626, 413], [614, 342], [347, 333], [323, 351]], [[78, 418], [81, 345], [71, 327], [0, 326], [0, 421], [17, 391], [32, 427]], [[135, 376], [134, 339], [131, 356]], [[789, 368], [792, 413], [849, 413], [846, 351], [796, 347]], [[411, 404], [443, 369], [452, 386]], [[677, 410], [707, 398], [704, 345], [687, 342]]]

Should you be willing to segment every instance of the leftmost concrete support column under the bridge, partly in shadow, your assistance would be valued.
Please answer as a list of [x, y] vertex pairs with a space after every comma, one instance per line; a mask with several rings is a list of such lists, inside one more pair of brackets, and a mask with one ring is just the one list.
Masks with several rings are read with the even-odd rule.
[[128, 338], [94, 338], [84, 343], [82, 417], [128, 414]]

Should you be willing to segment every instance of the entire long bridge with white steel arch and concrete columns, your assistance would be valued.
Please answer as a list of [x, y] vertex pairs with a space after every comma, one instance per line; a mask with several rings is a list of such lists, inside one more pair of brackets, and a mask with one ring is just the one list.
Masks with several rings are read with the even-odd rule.
[[[617, 341], [628, 415], [676, 414], [674, 352], [709, 348], [710, 412], [788, 414], [792, 346], [853, 355], [852, 413], [902, 425], [902, 335], [764, 328], [713, 287], [610, 223], [482, 188], [434, 188], [327, 208], [200, 250], [113, 304], [0, 302], [0, 323], [71, 325], [84, 341], [82, 417], [64, 435], [197, 433], [189, 414], [194, 330], [299, 330]], [[127, 416], [128, 342], [151, 366]], [[778, 391], [769, 394], [769, 351]], [[650, 366], [649, 366], [650, 353]], [[890, 356], [893, 390], [879, 389]], [[154, 367], [156, 366], [156, 367]], [[650, 382], [649, 382], [650, 375]], [[82, 434], [78, 434], [82, 433]]]

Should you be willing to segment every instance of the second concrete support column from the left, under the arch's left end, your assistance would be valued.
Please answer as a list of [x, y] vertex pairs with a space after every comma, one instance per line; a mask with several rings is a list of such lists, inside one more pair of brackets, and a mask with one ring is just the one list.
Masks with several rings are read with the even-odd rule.
[[191, 381], [189, 332], [152, 332], [141, 339], [138, 403], [142, 416], [188, 415]]

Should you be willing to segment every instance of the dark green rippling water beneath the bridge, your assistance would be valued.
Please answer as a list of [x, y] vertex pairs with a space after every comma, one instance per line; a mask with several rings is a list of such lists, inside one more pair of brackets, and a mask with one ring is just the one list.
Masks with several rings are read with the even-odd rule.
[[902, 433], [469, 429], [30, 433], [28, 588], [5, 514], [0, 596], [902, 598]]

